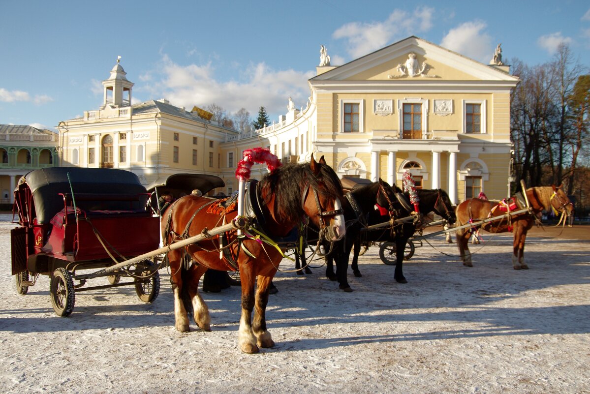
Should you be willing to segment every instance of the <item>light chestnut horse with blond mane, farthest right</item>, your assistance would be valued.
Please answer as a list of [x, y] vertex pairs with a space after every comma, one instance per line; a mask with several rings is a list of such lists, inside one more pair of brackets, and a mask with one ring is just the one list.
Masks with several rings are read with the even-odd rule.
[[[568, 196], [563, 190], [556, 186], [539, 186], [536, 188], [526, 189], [526, 198], [530, 204], [530, 213], [524, 212], [517, 215], [507, 216], [506, 211], [500, 209], [499, 202], [490, 202], [487, 200], [473, 198], [461, 202], [457, 206], [457, 223], [460, 227], [470, 222], [478, 222], [487, 218], [498, 216], [495, 221], [484, 223], [480, 226], [464, 228], [457, 230], [457, 245], [461, 254], [463, 265], [473, 267], [471, 262], [471, 252], [469, 251], [468, 241], [471, 233], [478, 228], [483, 228], [487, 232], [507, 232], [514, 231], [514, 252], [512, 255], [512, 265], [514, 270], [527, 270], [525, 264], [525, 238], [526, 233], [533, 226], [535, 219], [543, 211], [559, 212], [569, 215], [573, 214], [573, 204], [569, 201]], [[512, 211], [518, 211], [520, 208], [513, 208]]]

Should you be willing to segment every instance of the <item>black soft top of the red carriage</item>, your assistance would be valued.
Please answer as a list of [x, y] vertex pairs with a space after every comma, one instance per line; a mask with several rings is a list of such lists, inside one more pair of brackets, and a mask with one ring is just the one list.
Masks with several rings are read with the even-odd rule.
[[52, 167], [27, 173], [19, 179], [15, 193], [30, 189], [39, 224], [49, 222], [76, 201], [84, 211], [146, 212], [148, 193], [137, 175], [112, 168]]

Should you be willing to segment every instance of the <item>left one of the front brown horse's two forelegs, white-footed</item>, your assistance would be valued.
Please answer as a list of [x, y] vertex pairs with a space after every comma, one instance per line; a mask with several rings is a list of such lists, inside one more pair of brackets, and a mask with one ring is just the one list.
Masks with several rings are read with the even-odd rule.
[[[252, 262], [240, 264], [240, 281], [242, 285], [242, 315], [238, 330], [238, 345], [244, 353], [258, 353], [256, 337], [252, 331], [252, 310], [254, 309], [255, 277]], [[267, 286], [270, 284], [267, 284]]]

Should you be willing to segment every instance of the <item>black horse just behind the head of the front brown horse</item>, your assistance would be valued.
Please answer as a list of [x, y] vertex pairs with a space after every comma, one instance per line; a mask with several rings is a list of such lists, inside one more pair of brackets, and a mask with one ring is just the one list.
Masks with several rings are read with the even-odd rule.
[[[340, 241], [333, 242], [333, 250], [326, 255], [326, 277], [337, 280], [340, 289], [346, 292], [352, 291], [346, 277], [350, 250], [366, 226], [378, 222], [373, 217], [380, 216], [385, 218], [385, 221], [389, 221], [391, 216], [397, 218], [402, 217], [401, 215], [407, 216], [408, 212], [396, 198], [394, 190], [387, 182], [379, 179], [379, 182], [356, 186], [346, 193], [342, 208], [347, 235]], [[376, 205], [381, 207], [379, 211], [375, 211]], [[385, 216], [381, 216], [382, 214]], [[336, 274], [334, 274], [333, 261], [336, 261]]]

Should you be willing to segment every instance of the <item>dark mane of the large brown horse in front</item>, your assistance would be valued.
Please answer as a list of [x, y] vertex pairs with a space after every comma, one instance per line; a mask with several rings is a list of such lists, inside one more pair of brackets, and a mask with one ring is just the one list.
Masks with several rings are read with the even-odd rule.
[[329, 198], [342, 198], [342, 184], [334, 170], [327, 165], [316, 163], [320, 169], [316, 176], [309, 163], [286, 164], [264, 175], [260, 187], [267, 192], [264, 203], [276, 196], [277, 213], [286, 221], [297, 222], [303, 216], [301, 198], [303, 188], [309, 183], [310, 193], [313, 189], [322, 189], [322, 194]]

